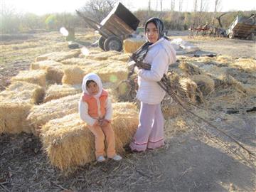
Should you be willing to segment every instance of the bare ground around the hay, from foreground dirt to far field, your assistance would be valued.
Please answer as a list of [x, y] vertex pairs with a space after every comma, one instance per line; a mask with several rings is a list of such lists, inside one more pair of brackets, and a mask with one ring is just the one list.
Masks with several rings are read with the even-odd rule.
[[[183, 35], [176, 33], [176, 36]], [[1, 43], [1, 90], [9, 84], [11, 76], [28, 69], [37, 55], [68, 50], [63, 37], [57, 33], [46, 35], [31, 37], [29, 45], [23, 41], [17, 41], [19, 46], [17, 42]], [[83, 41], [90, 44], [95, 37]], [[191, 42], [201, 50], [233, 57], [256, 57], [253, 41], [194, 38]], [[231, 115], [232, 121], [213, 119], [213, 122], [255, 151], [255, 112]], [[171, 128], [165, 129], [167, 132]], [[0, 191], [255, 191], [255, 161], [246, 162], [231, 154], [217, 139], [225, 140], [234, 151], [252, 160], [230, 139], [210, 127], [209, 130], [215, 137], [206, 137], [196, 129], [173, 131], [166, 134], [166, 145], [161, 149], [127, 152], [122, 154], [122, 161], [93, 162], [79, 167], [73, 174], [63, 174], [50, 165], [38, 137], [25, 133], [1, 134]]]

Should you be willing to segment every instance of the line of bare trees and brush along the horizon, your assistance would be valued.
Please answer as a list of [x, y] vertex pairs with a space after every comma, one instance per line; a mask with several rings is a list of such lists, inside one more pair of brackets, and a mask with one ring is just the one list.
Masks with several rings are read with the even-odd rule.
[[[157, 0], [156, 0], [157, 1]], [[86, 16], [93, 18], [95, 21], [102, 21], [107, 14], [110, 13], [117, 0], [94, 0], [87, 1], [82, 11]], [[218, 12], [218, 2], [215, 0], [215, 9], [213, 12], [206, 11], [206, 4], [203, 0], [194, 0], [194, 10], [191, 12], [183, 12], [183, 1], [178, 2], [178, 11], [175, 11], [175, 0], [171, 0], [171, 9], [168, 11], [162, 10], [162, 1], [159, 1], [160, 11], [154, 11], [151, 7], [151, 1], [146, 10], [134, 11], [133, 14], [139, 18], [139, 26], [143, 26], [145, 21], [156, 16], [164, 21], [167, 29], [170, 30], [187, 30], [191, 26], [204, 25], [206, 23], [219, 26], [218, 16], [223, 12]], [[196, 3], [195, 3], [196, 2]], [[199, 3], [198, 3], [199, 2]], [[255, 11], [230, 11], [221, 17], [223, 28], [228, 28], [230, 23], [236, 16], [250, 16], [255, 14]], [[33, 33], [36, 31], [58, 31], [61, 27], [66, 28], [86, 28], [86, 23], [76, 14], [60, 13], [46, 14], [38, 16], [36, 14], [16, 14], [15, 11], [3, 8], [1, 11], [1, 33]]]

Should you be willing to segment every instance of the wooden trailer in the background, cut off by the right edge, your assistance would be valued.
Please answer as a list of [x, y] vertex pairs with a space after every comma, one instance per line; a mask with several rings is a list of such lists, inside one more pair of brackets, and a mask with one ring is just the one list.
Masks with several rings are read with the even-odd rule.
[[229, 38], [253, 39], [256, 34], [255, 14], [252, 16], [237, 16], [227, 31]]

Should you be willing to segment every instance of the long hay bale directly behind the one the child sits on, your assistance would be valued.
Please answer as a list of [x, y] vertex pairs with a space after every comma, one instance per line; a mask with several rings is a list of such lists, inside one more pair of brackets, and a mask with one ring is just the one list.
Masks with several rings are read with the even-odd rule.
[[27, 117], [33, 134], [38, 134], [41, 126], [50, 119], [57, 119], [67, 114], [78, 112], [80, 97], [81, 94], [69, 95], [58, 100], [51, 100], [42, 105], [33, 106]]

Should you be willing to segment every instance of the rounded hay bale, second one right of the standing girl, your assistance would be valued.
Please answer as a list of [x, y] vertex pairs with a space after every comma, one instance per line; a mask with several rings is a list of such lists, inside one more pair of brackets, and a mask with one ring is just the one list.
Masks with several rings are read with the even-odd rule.
[[198, 89], [201, 90], [204, 96], [214, 91], [214, 80], [208, 75], [193, 75], [191, 79], [196, 82]]

